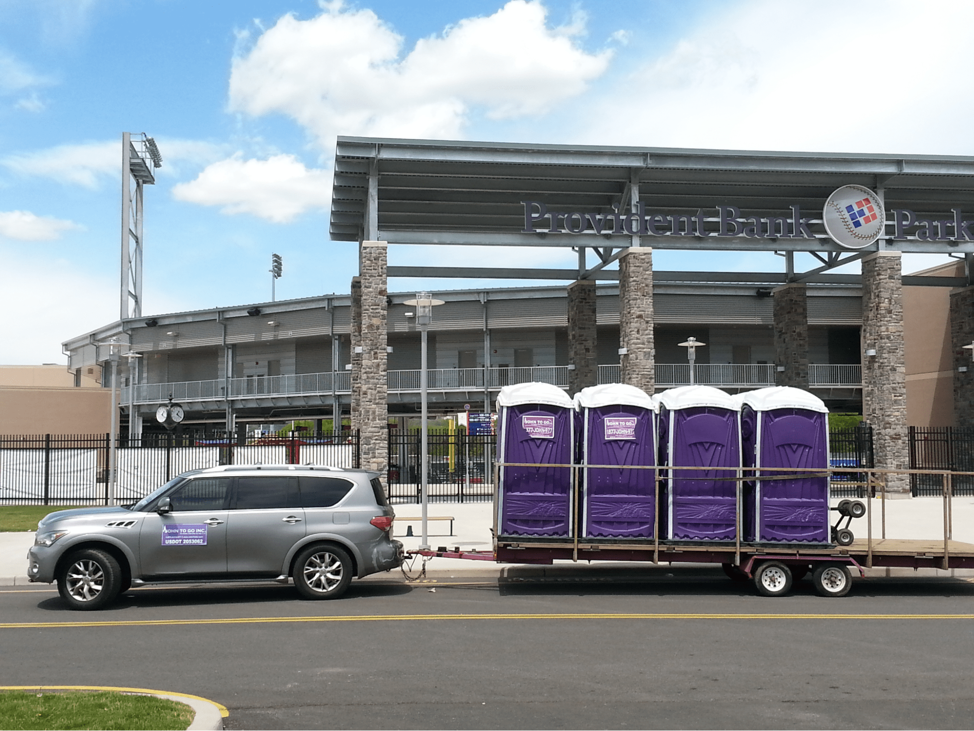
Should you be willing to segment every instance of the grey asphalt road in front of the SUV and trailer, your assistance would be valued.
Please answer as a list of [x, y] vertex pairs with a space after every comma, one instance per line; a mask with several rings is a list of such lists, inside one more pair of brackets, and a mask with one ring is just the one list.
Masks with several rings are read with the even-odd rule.
[[96, 613], [0, 591], [0, 684], [193, 693], [230, 729], [969, 729], [972, 664], [965, 579], [836, 599], [808, 581], [763, 598], [710, 568], [383, 574], [327, 602], [146, 588]]

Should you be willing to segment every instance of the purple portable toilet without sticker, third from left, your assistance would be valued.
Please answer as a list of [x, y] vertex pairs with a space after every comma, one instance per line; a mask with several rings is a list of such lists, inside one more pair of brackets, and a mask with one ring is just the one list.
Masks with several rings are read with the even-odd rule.
[[659, 458], [663, 482], [660, 535], [678, 541], [732, 541], [736, 536], [740, 467], [739, 405], [712, 386], [659, 394]]

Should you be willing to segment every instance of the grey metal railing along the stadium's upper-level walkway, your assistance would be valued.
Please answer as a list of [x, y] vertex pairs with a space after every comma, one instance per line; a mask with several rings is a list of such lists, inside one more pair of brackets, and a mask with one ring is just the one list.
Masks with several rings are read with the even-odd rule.
[[[708, 386], [758, 388], [774, 385], [775, 367], [772, 364], [696, 364], [694, 380]], [[859, 365], [809, 365], [809, 385], [817, 387], [859, 386], [862, 379]], [[568, 386], [567, 365], [535, 365], [532, 367], [487, 368], [487, 388], [496, 391], [515, 383], [540, 381], [565, 388]], [[599, 365], [599, 383], [618, 383], [618, 365]], [[390, 370], [388, 388], [393, 393], [420, 390], [419, 370]], [[690, 364], [656, 364], [656, 385], [664, 388], [690, 383]], [[227, 381], [177, 381], [148, 383], [135, 386], [135, 404], [162, 404], [171, 395], [173, 401], [226, 401]], [[231, 401], [262, 397], [347, 394], [352, 390], [352, 373], [338, 370], [325, 373], [253, 376], [229, 380]], [[433, 368], [429, 371], [431, 391], [482, 391], [483, 368]], [[122, 389], [122, 404], [130, 402], [131, 388]]]

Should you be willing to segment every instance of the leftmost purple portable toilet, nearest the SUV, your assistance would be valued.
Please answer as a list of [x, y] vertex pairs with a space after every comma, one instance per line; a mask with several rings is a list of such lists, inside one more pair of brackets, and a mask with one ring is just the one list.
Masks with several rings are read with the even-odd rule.
[[[498, 460], [572, 464], [575, 407], [549, 383], [505, 386], [497, 397]], [[501, 535], [571, 535], [570, 467], [501, 467], [498, 516]]]

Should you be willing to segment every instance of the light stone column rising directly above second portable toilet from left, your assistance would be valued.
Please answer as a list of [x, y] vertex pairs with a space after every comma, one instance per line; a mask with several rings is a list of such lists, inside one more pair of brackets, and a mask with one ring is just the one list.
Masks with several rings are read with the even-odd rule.
[[656, 389], [653, 341], [653, 250], [631, 247], [618, 258], [618, 344], [622, 383], [652, 395]]

